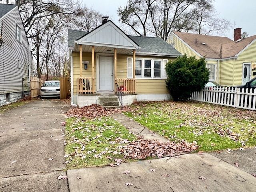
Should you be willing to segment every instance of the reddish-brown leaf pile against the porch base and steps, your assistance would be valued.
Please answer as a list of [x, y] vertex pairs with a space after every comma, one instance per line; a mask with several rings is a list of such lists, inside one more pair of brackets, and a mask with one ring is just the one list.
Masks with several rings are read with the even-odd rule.
[[115, 112], [125, 112], [125, 111], [132, 111], [132, 109], [128, 106], [124, 106], [123, 110], [117, 109], [117, 108], [104, 108], [101, 105], [98, 104], [92, 104], [89, 106], [84, 106], [84, 107], [73, 107], [68, 110], [66, 115], [68, 117], [76, 117], [76, 118], [98, 118], [102, 116], [108, 116], [111, 115]]

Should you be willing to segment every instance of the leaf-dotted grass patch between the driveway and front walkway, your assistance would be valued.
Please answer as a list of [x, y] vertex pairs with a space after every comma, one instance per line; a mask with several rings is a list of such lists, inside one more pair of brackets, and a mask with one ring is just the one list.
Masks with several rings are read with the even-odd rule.
[[113, 118], [66, 120], [67, 169], [103, 166], [122, 159], [120, 148], [136, 139]]

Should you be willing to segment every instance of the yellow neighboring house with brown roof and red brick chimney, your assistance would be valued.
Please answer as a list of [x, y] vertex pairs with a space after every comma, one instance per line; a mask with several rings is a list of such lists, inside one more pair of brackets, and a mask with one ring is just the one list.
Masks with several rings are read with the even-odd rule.
[[173, 31], [167, 42], [182, 54], [205, 57], [210, 81], [220, 85], [244, 85], [256, 76], [256, 35], [241, 39], [241, 28], [234, 30], [234, 41]]

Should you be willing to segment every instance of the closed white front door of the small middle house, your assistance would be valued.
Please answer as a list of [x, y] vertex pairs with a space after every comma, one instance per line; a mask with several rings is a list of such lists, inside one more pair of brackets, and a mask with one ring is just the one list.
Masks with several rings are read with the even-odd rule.
[[100, 91], [113, 91], [113, 57], [100, 56]]

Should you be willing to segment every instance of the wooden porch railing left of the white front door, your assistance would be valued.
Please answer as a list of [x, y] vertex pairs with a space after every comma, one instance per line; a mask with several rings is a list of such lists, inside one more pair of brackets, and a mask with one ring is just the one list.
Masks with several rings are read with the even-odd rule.
[[77, 92], [78, 94], [94, 93], [94, 78], [92, 77], [77, 78]]

